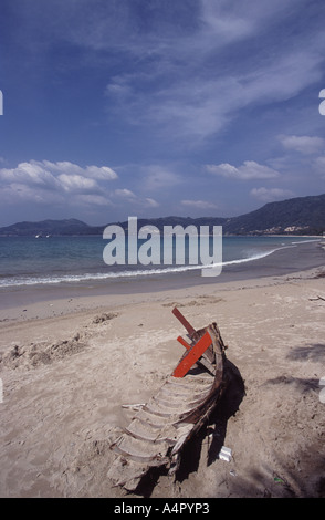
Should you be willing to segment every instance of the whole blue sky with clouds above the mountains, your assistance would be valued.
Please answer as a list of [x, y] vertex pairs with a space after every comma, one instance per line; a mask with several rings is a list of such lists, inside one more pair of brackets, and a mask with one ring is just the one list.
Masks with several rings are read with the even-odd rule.
[[0, 227], [323, 194], [324, 89], [323, 0], [1, 0]]

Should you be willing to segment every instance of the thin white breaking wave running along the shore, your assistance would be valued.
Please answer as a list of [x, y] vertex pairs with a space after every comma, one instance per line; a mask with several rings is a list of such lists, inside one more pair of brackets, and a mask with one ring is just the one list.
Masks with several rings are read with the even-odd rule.
[[[239, 258], [234, 260], [228, 260], [220, 263], [211, 264], [196, 264], [196, 266], [178, 266], [169, 268], [157, 268], [157, 269], [139, 269], [139, 270], [129, 270], [129, 271], [115, 271], [115, 272], [96, 272], [96, 273], [81, 273], [81, 274], [62, 274], [56, 277], [29, 277], [29, 278], [6, 278], [0, 280], [0, 288], [10, 288], [10, 287], [21, 287], [21, 285], [48, 285], [48, 284], [59, 284], [59, 283], [77, 283], [77, 282], [87, 282], [87, 281], [101, 281], [101, 280], [118, 280], [118, 279], [138, 279], [153, 275], [164, 275], [180, 273], [187, 271], [195, 271], [199, 269], [213, 269], [213, 268], [224, 268], [227, 266], [241, 264], [252, 262], [254, 260], [260, 260], [262, 258], [273, 254], [275, 251], [282, 249], [289, 249], [296, 247], [296, 243], [292, 242], [292, 246], [282, 246], [279, 248], [271, 249], [269, 251], [261, 251], [254, 253], [247, 258]], [[221, 272], [221, 271], [220, 271]]]

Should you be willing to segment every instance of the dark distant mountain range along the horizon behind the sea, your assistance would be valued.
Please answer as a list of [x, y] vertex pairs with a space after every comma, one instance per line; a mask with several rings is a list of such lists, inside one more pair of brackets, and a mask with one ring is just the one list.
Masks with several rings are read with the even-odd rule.
[[[118, 223], [127, 230], [128, 222]], [[223, 235], [322, 235], [325, 232], [325, 194], [296, 197], [280, 202], [269, 202], [255, 211], [239, 217], [161, 217], [138, 219], [138, 229], [145, 225], [222, 226]], [[9, 236], [72, 236], [102, 235], [105, 226], [88, 226], [77, 219], [42, 220], [40, 222], [18, 222], [0, 228], [1, 237]]]

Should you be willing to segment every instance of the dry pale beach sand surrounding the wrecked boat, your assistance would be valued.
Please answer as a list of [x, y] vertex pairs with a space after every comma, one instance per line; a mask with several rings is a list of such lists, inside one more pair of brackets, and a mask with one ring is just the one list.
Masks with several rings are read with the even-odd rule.
[[[2, 309], [0, 496], [325, 497], [323, 271]], [[175, 305], [196, 329], [218, 323], [245, 392], [229, 389], [237, 410], [226, 394], [177, 479], [154, 471], [127, 493], [106, 477], [109, 445], [132, 418], [122, 405], [147, 402], [182, 355]]]

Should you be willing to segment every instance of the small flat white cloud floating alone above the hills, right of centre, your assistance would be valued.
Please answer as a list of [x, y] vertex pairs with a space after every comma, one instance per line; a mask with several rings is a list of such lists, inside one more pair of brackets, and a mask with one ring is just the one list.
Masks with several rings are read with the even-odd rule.
[[271, 179], [280, 175], [275, 169], [260, 165], [254, 160], [245, 160], [239, 167], [223, 163], [219, 165], [206, 165], [206, 168], [210, 174], [239, 180]]

